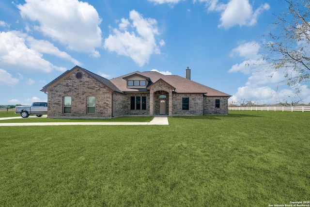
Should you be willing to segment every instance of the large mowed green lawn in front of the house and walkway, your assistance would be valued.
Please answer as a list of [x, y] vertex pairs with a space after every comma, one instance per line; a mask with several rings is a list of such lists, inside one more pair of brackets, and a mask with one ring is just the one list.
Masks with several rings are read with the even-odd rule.
[[169, 126], [0, 127], [0, 206], [309, 201], [309, 118], [230, 111]]

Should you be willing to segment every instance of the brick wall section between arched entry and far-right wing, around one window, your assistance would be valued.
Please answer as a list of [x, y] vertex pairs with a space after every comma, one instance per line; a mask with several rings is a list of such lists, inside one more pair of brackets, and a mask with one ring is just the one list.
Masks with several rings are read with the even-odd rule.
[[[189, 109], [182, 110], [182, 98], [189, 98]], [[202, 94], [172, 94], [172, 115], [202, 115]]]

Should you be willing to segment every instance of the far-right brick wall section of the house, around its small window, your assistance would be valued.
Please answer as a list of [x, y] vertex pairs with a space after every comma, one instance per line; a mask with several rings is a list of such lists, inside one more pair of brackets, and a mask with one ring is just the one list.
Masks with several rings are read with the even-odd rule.
[[[215, 100], [219, 99], [219, 108], [215, 106]], [[228, 114], [228, 97], [203, 97], [203, 114]]]

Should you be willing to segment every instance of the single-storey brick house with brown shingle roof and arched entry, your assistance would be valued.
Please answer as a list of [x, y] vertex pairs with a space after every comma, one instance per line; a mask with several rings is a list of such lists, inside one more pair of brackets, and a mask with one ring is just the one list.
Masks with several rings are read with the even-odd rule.
[[75, 66], [41, 90], [49, 118], [112, 118], [124, 115], [228, 114], [230, 95], [186, 78], [155, 71], [111, 80]]

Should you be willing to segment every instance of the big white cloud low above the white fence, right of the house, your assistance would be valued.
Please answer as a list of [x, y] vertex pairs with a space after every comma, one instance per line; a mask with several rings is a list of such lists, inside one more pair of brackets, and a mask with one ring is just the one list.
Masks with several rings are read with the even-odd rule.
[[[229, 102], [241, 100], [256, 102], [257, 104], [275, 104], [277, 101], [298, 99], [295, 89], [286, 85], [284, 72], [269, 68], [266, 61], [259, 55], [260, 45], [256, 42], [245, 42], [233, 48], [231, 57], [235, 54], [246, 59], [240, 64], [234, 64], [229, 72], [249, 74], [244, 86], [229, 99]], [[303, 85], [300, 87], [300, 98], [304, 103], [310, 100], [310, 89]]]

